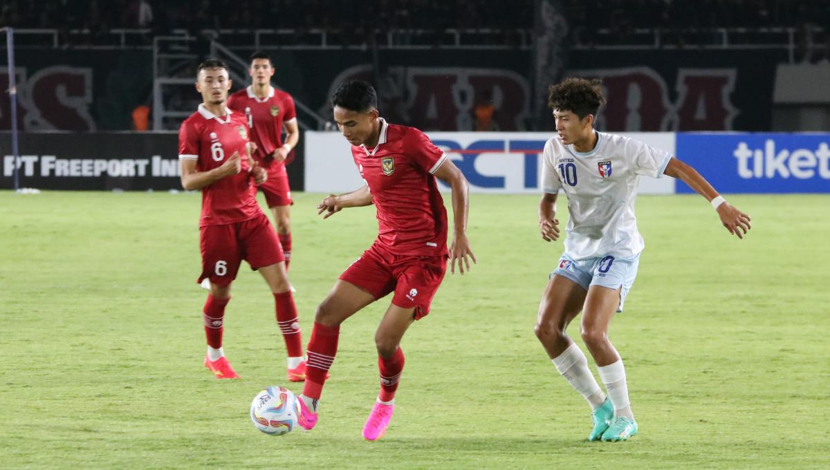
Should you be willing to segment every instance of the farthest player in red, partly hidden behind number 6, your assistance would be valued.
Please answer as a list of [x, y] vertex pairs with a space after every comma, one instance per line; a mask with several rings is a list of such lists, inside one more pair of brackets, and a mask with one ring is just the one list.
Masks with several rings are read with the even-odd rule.
[[[291, 264], [291, 188], [288, 187], [286, 157], [300, 139], [294, 99], [285, 91], [271, 86], [274, 67], [265, 52], [251, 55], [251, 85], [227, 99], [227, 107], [244, 114], [251, 128], [251, 140], [256, 143], [253, 157], [259, 166], [268, 170], [268, 181], [259, 186], [274, 215], [276, 234], [286, 254], [286, 270]], [[286, 128], [286, 142], [282, 129]]]

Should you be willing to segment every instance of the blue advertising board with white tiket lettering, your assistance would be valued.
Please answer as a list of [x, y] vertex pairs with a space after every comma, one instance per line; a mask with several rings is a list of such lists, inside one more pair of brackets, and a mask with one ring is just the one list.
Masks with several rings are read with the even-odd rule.
[[676, 155], [724, 193], [830, 192], [830, 133], [677, 133]]

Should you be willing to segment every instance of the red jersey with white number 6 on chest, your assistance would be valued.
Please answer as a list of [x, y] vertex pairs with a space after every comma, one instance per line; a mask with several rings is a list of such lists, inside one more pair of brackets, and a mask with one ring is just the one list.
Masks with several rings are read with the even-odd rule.
[[196, 160], [199, 172], [222, 166], [234, 152], [242, 158], [242, 172], [202, 188], [199, 226], [232, 224], [262, 214], [256, 203], [253, 178], [248, 173], [247, 143], [245, 118], [230, 109], [222, 119], [199, 104], [198, 111], [182, 123], [178, 130], [178, 157]]

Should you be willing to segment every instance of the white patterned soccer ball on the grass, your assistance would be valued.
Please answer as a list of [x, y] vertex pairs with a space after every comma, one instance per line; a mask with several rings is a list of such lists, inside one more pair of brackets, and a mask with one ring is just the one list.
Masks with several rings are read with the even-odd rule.
[[251, 421], [265, 434], [290, 433], [300, 418], [300, 399], [286, 387], [274, 385], [262, 390], [251, 402]]

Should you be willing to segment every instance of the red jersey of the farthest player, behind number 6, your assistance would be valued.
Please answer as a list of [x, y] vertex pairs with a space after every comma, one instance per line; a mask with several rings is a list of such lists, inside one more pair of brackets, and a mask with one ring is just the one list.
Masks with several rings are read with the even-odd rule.
[[246, 117], [251, 140], [256, 143], [254, 158], [263, 167], [285, 165], [285, 162], [275, 162], [271, 154], [282, 145], [282, 124], [297, 117], [291, 94], [271, 86], [266, 99], [259, 99], [248, 86], [232, 94], [227, 99], [227, 107]]

